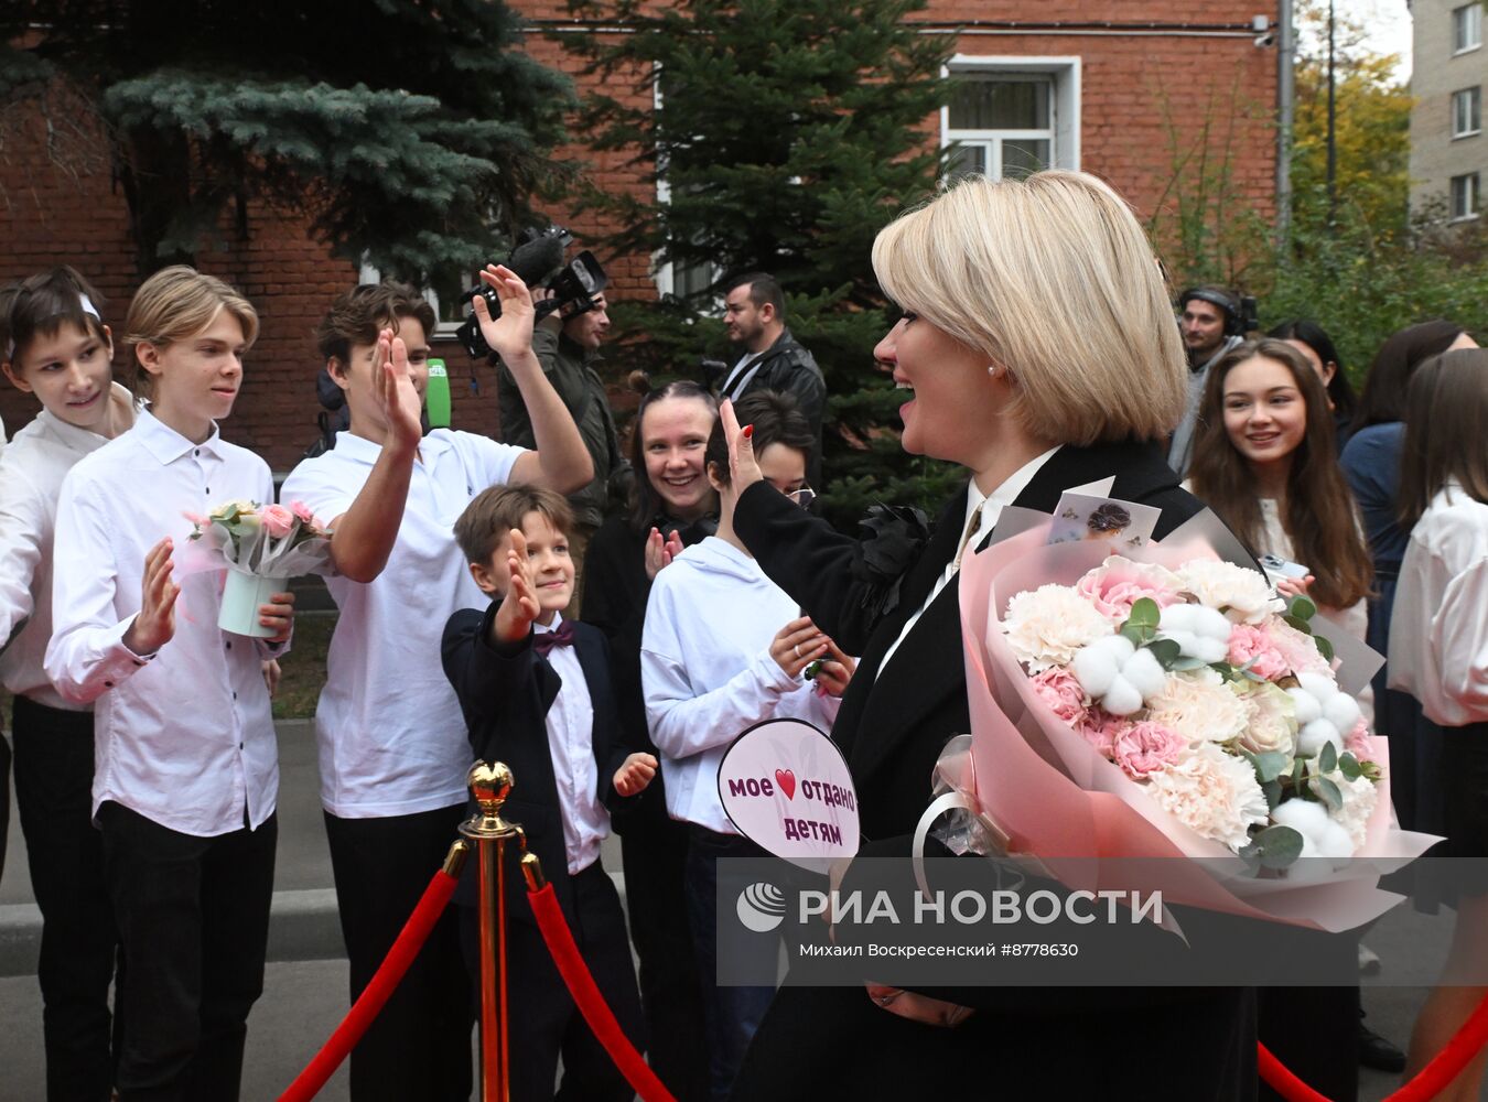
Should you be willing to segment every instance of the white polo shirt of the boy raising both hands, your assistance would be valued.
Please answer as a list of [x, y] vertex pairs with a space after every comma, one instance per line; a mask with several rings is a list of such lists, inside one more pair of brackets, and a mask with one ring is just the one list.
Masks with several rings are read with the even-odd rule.
[[[454, 523], [470, 498], [510, 479], [525, 449], [436, 428], [418, 445], [402, 526], [369, 583], [338, 574], [326, 587], [341, 610], [315, 706], [320, 802], [338, 818], [414, 815], [466, 802], [470, 742], [439, 645], [445, 623], [490, 598], [470, 579]], [[317, 518], [345, 513], [382, 446], [341, 433], [301, 463], [280, 500]]]

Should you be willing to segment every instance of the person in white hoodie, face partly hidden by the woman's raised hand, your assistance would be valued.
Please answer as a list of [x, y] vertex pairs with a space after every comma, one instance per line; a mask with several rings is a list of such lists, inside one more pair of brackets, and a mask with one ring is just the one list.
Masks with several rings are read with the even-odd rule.
[[[735, 407], [751, 425], [765, 479], [801, 506], [815, 497], [805, 485], [811, 428], [784, 396], [757, 391]], [[754, 562], [734, 534], [735, 492], [728, 445], [714, 425], [707, 473], [719, 491], [719, 531], [687, 547], [656, 576], [641, 639], [646, 721], [661, 750], [667, 811], [689, 824], [687, 919], [702, 979], [711, 1093], [728, 1098], [772, 987], [720, 987], [714, 888], [720, 857], [760, 857], [723, 813], [719, 761], [747, 727], [801, 718], [829, 730], [853, 659]], [[820, 662], [814, 683], [804, 674]]]

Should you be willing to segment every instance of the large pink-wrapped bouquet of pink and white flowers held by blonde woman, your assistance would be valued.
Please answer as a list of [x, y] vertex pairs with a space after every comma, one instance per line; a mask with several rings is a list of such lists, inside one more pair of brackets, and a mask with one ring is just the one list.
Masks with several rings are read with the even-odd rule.
[[961, 568], [972, 736], [927, 818], [964, 808], [970, 848], [1100, 886], [1134, 873], [1088, 858], [1208, 858], [1168, 863], [1170, 903], [1342, 929], [1397, 901], [1378, 874], [1434, 839], [1393, 821], [1357, 700], [1378, 656], [1223, 561], [1213, 518], [1123, 555], [1048, 535]]

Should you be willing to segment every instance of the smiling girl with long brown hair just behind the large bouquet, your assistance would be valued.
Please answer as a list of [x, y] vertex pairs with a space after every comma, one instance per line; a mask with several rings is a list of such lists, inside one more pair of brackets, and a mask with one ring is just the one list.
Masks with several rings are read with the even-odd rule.
[[1306, 565], [1306, 590], [1360, 638], [1369, 552], [1333, 449], [1323, 381], [1290, 342], [1247, 341], [1204, 390], [1190, 489], [1256, 555]]

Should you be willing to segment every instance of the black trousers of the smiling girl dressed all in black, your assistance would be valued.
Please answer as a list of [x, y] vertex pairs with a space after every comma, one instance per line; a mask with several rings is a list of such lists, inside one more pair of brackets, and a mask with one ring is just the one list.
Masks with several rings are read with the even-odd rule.
[[646, 803], [625, 819], [620, 855], [625, 909], [640, 958], [650, 1065], [679, 1102], [704, 1102], [708, 1098], [708, 1044], [683, 891], [687, 824], [670, 818], [665, 803], [652, 802], [647, 793]]

